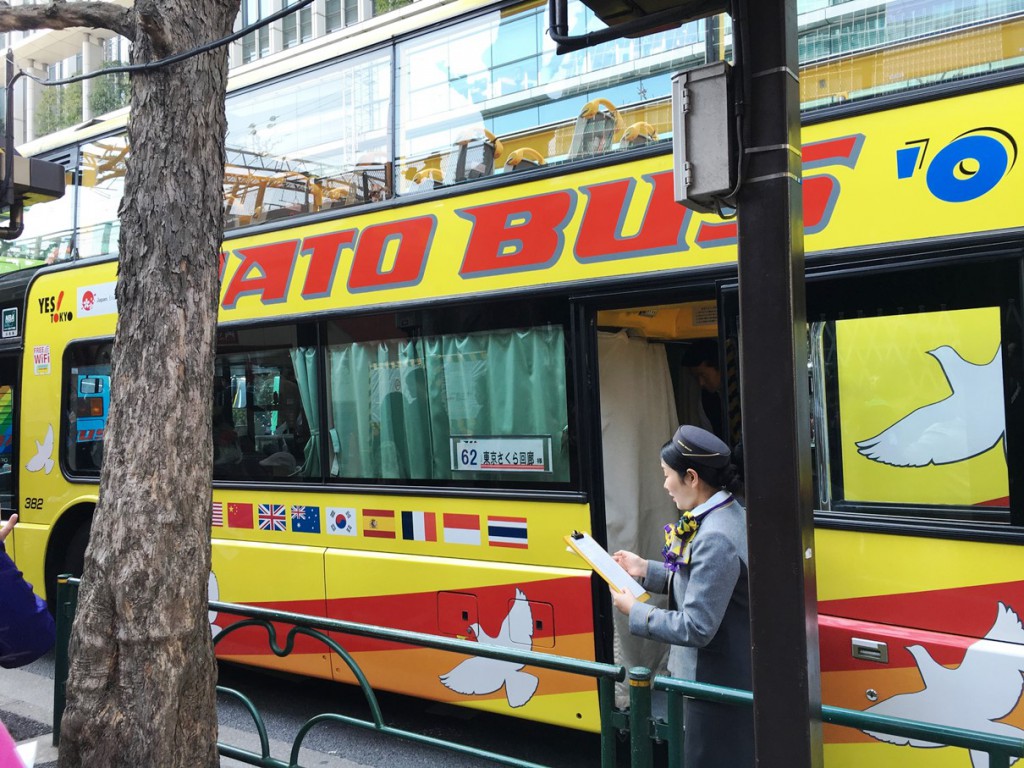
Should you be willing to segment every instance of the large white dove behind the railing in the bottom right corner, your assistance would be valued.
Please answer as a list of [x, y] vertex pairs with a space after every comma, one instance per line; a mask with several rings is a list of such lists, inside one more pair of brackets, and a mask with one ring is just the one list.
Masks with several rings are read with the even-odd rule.
[[[876, 715], [909, 718], [926, 723], [1020, 738], [1024, 730], [1001, 720], [1017, 708], [1024, 686], [1024, 627], [1012, 608], [999, 603], [995, 624], [984, 638], [972, 643], [961, 666], [947, 669], [920, 645], [907, 646], [918, 663], [925, 689], [899, 693], [869, 707]], [[905, 736], [865, 731], [880, 741], [910, 746], [945, 746]], [[1016, 759], [1010, 761], [1011, 764]], [[988, 768], [988, 755], [971, 751], [974, 768]]]

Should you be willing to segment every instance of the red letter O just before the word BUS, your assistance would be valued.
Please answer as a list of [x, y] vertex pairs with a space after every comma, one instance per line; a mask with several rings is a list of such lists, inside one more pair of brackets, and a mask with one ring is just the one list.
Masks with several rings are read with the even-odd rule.
[[[350, 291], [415, 286], [423, 279], [437, 219], [418, 216], [368, 226], [359, 236], [348, 275]], [[392, 261], [390, 266], [385, 260]]]

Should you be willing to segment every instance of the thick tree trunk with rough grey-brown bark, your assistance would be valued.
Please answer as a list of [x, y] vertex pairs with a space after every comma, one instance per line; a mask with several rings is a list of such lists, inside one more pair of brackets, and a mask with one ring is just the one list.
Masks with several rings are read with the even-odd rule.
[[[0, 31], [110, 29], [140, 63], [229, 34], [238, 10], [56, 1], [0, 8]], [[226, 80], [223, 47], [131, 79], [113, 391], [61, 768], [218, 762], [206, 599]]]

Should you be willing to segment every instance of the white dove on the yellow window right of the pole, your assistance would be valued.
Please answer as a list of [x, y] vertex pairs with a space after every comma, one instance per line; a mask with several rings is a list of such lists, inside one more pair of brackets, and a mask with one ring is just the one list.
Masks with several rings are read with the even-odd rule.
[[949, 396], [859, 441], [857, 450], [881, 464], [925, 467], [961, 462], [993, 447], [1006, 431], [1000, 352], [1001, 345], [989, 362], [976, 366], [950, 346], [931, 350], [945, 374]]

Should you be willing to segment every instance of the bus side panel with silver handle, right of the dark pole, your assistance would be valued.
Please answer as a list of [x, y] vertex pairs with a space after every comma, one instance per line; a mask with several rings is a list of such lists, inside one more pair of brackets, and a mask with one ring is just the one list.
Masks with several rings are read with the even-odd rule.
[[[824, 703], [1024, 735], [1019, 547], [829, 529], [815, 539]], [[824, 734], [829, 768], [972, 764], [964, 750]]]

